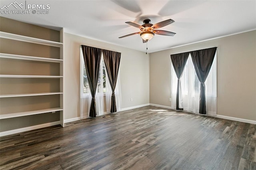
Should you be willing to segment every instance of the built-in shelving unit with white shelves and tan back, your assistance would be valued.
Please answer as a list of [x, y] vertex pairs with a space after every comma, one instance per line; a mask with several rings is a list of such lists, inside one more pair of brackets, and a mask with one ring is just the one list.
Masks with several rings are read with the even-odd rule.
[[[2, 66], [5, 67], [0, 69], [1, 71], [0, 83], [2, 85], [2, 87], [0, 86], [1, 87], [0, 103], [2, 103], [1, 104], [2, 108], [0, 111], [0, 120], [4, 121], [5, 125], [8, 125], [8, 121], [13, 122], [16, 120], [15, 119], [16, 117], [25, 117], [30, 115], [52, 113], [52, 114], [55, 114], [53, 119], [53, 122], [55, 123], [56, 114], [58, 113], [59, 114], [58, 121], [62, 126], [64, 126], [64, 115], [63, 115], [63, 34], [64, 32], [63, 32], [63, 29], [58, 32], [56, 30], [34, 26], [32, 24], [10, 20], [8, 18], [0, 17], [0, 19], [1, 21], [8, 23], [8, 24], [3, 24], [4, 26], [1, 27], [1, 30], [0, 30], [0, 38], [2, 38], [1, 44], [4, 44], [6, 42], [6, 44], [4, 44], [5, 47], [2, 47], [0, 51], [0, 59], [1, 61], [3, 61], [1, 64]], [[33, 37], [19, 35], [20, 32], [22, 31], [18, 30], [15, 32], [15, 30], [13, 30], [13, 27], [10, 29], [11, 32], [9, 32], [8, 25], [9, 24], [16, 25], [17, 22], [19, 26], [24, 26], [23, 32], [25, 32], [25, 35], [29, 35], [30, 32], [34, 29]], [[25, 28], [29, 28], [28, 30], [30, 31], [27, 32]], [[17, 27], [17, 29], [19, 28]], [[35, 36], [36, 34], [34, 33], [40, 32], [38, 31], [38, 29], [42, 31], [42, 34], [49, 35], [48, 40], [40, 39], [41, 37], [44, 37], [40, 33], [38, 33], [38, 36]], [[13, 34], [13, 33], [18, 33], [18, 34]], [[34, 38], [34, 36], [40, 37], [40, 38]], [[59, 42], [56, 41], [58, 40], [58, 36], [59, 36]], [[12, 42], [10, 41], [8, 42], [7, 40], [10, 40]], [[54, 41], [51, 41], [51, 40], [54, 40]], [[25, 49], [20, 49], [21, 51], [20, 53], [19, 51], [17, 52], [17, 50], [13, 52], [10, 47], [12, 46], [12, 44], [10, 43], [16, 43], [16, 41], [21, 42], [22, 46], [24, 44]], [[33, 44], [39, 44], [39, 45], [36, 46], [36, 48], [34, 48], [35, 46]], [[47, 45], [49, 47], [46, 47], [44, 45]], [[26, 50], [28, 51], [28, 54], [30, 54], [29, 52], [30, 50], [33, 51], [31, 53], [32, 56], [27, 55]], [[24, 55], [24, 51], [25, 51], [25, 55]], [[12, 65], [12, 63], [14, 63], [14, 65]], [[9, 65], [10, 65], [10, 69], [8, 68]], [[30, 65], [32, 66], [31, 68], [30, 68]], [[16, 72], [12, 71], [12, 67], [15, 69]], [[25, 68], [22, 69], [22, 67], [23, 68], [25, 67]], [[58, 67], [60, 69], [59, 71], [56, 71], [58, 70]], [[37, 70], [37, 72], [34, 72], [35, 69]], [[42, 73], [38, 72], [38, 70], [39, 71], [42, 70]], [[37, 73], [38, 75], [34, 75]], [[43, 74], [43, 75], [40, 75], [40, 74]], [[26, 78], [26, 80], [24, 78]], [[59, 79], [59, 80], [53, 80], [53, 79]], [[59, 82], [59, 85], [56, 84], [58, 82]], [[56, 85], [58, 86], [56, 87]], [[27, 89], [22, 89], [22, 87], [27, 87]], [[38, 89], [37, 87], [43, 87], [44, 89]], [[14, 92], [12, 91], [12, 88], [14, 88]], [[52, 92], [52, 91], [56, 91], [56, 92]], [[10, 94], [10, 93], [6, 94], [8, 92], [12, 92], [16, 94]], [[41, 93], [41, 92], [44, 92], [44, 93]], [[52, 97], [50, 95], [52, 95]], [[22, 102], [24, 102], [24, 105], [22, 105]], [[13, 111], [10, 111], [9, 109]], [[49, 121], [51, 119], [49, 116], [50, 116], [49, 114], [46, 114], [47, 119], [45, 121]], [[31, 121], [31, 119], [35, 119], [35, 117], [33, 118], [31, 117], [28, 120]], [[30, 121], [28, 121], [28, 125], [21, 125], [21, 128], [24, 126], [25, 127], [31, 126], [29, 125]], [[46, 124], [47, 123], [50, 123], [50, 122], [46, 122]], [[32, 123], [32, 125], [34, 125], [34, 123]], [[0, 127], [0, 129], [1, 128], [2, 127]], [[15, 130], [15, 129], [10, 128], [10, 131], [12, 130]], [[2, 130], [0, 131], [0, 136], [1, 136], [1, 132], [3, 131]], [[4, 130], [4, 132], [6, 132], [6, 129]]]

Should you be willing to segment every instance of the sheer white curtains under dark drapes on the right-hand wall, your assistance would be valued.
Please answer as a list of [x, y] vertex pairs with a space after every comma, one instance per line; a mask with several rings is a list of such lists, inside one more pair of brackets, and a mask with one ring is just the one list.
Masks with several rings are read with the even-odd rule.
[[[216, 116], [217, 114], [217, 56], [215, 54], [212, 67], [206, 79], [206, 114]], [[171, 65], [171, 89], [172, 89], [172, 109], [176, 109], [176, 90], [178, 79], [175, 74], [173, 65]], [[179, 105], [183, 104], [183, 110], [199, 113], [199, 99], [200, 99], [200, 81], [196, 75], [196, 71], [189, 55], [188, 61], [184, 68], [182, 77], [180, 78], [182, 89], [182, 101]]]

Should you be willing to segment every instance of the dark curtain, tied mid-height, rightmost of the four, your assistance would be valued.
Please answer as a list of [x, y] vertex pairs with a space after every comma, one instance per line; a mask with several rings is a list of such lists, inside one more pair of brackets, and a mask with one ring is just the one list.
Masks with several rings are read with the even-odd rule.
[[191, 51], [191, 57], [196, 69], [197, 77], [200, 81], [200, 103], [199, 103], [199, 113], [206, 114], [206, 101], [205, 101], [205, 80], [209, 74], [212, 67], [212, 62], [214, 55], [216, 53], [217, 47], [201, 49], [197, 51]]

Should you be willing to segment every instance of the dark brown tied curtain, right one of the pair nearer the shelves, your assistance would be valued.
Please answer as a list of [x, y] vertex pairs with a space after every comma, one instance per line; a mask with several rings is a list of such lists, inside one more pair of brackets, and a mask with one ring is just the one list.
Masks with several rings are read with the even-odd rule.
[[115, 96], [115, 88], [118, 76], [118, 70], [120, 65], [121, 53], [115, 51], [109, 51], [103, 49], [103, 57], [106, 66], [106, 71], [108, 74], [108, 80], [110, 82], [112, 95], [111, 95], [111, 109], [110, 113], [116, 112], [116, 96]]

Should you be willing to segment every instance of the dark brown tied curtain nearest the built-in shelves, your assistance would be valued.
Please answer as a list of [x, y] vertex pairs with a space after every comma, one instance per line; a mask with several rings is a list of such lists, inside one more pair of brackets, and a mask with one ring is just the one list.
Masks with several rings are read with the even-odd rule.
[[98, 84], [102, 49], [89, 47], [86, 45], [81, 45], [81, 46], [82, 46], [82, 51], [84, 56], [84, 63], [85, 63], [89, 88], [92, 95], [92, 103], [90, 107], [89, 116], [96, 117], [95, 94], [96, 94], [97, 84]]

